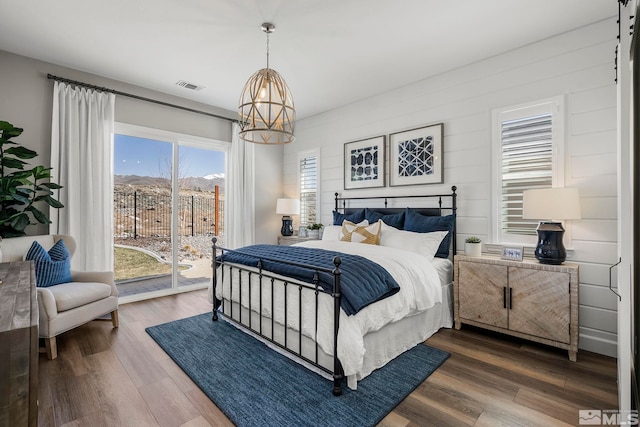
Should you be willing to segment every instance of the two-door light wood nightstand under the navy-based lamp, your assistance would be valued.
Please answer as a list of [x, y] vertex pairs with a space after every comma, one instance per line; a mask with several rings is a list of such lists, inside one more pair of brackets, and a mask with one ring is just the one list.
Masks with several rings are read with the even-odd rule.
[[578, 266], [506, 261], [497, 257], [454, 260], [455, 328], [463, 323], [578, 353]]

